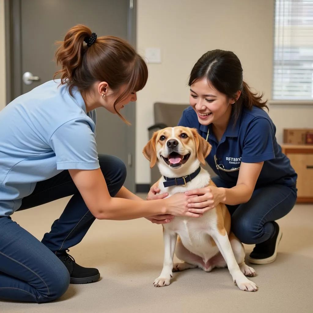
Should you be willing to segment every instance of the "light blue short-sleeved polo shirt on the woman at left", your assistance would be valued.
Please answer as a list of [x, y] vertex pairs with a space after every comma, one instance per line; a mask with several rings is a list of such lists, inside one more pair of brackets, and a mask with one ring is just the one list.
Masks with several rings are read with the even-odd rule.
[[99, 168], [96, 112], [86, 112], [60, 80], [44, 83], [0, 111], [0, 217], [16, 211], [39, 181], [68, 169]]

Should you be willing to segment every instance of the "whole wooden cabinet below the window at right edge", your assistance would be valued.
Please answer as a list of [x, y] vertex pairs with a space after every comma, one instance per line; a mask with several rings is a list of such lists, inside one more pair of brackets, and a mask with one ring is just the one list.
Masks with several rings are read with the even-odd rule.
[[298, 203], [313, 203], [313, 145], [283, 144], [283, 153], [298, 174]]

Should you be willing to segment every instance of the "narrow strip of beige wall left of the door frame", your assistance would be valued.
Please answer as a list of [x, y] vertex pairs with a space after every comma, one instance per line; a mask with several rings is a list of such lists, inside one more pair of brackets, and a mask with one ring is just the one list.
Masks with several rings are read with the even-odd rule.
[[0, 110], [6, 105], [4, 0], [0, 0]]

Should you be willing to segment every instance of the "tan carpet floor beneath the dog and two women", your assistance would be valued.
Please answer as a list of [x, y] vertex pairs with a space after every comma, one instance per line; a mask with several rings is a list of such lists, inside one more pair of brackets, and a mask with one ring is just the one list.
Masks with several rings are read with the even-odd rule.
[[[13, 219], [38, 239], [50, 229], [68, 198], [17, 212]], [[313, 205], [296, 205], [279, 223], [283, 238], [274, 263], [255, 265], [255, 293], [240, 291], [228, 269], [174, 273], [172, 284], [155, 288], [163, 261], [162, 226], [145, 219], [96, 220], [70, 250], [76, 261], [97, 267], [101, 280], [70, 285], [47, 304], [0, 302], [0, 312], [313, 312]], [[253, 246], [246, 246], [246, 252]]]

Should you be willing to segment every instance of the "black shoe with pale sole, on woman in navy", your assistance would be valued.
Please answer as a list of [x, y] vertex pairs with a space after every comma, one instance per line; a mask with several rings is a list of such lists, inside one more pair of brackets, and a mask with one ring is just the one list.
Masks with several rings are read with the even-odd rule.
[[277, 247], [283, 234], [278, 224], [276, 222], [272, 223], [275, 230], [274, 235], [266, 241], [255, 245], [248, 259], [250, 263], [268, 264], [275, 261], [277, 255]]

